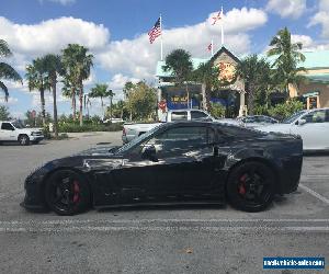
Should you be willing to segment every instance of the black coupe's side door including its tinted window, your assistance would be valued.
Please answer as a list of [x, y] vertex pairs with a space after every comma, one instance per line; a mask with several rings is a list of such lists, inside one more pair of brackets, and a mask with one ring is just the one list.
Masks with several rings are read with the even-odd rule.
[[201, 198], [214, 186], [214, 130], [207, 126], [179, 126], [151, 138], [157, 162], [149, 169], [147, 193], [158, 201]]

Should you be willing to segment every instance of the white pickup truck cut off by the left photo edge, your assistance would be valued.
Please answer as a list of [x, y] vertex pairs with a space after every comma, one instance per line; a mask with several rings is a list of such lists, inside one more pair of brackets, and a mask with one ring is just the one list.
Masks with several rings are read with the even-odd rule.
[[44, 139], [39, 128], [24, 128], [18, 121], [0, 121], [0, 142], [19, 141], [22, 146]]

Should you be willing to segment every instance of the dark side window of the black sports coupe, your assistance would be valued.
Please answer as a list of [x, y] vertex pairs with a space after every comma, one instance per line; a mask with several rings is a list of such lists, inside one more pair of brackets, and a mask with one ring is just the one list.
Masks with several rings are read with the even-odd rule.
[[166, 130], [151, 138], [146, 146], [154, 145], [157, 152], [173, 152], [197, 148], [215, 140], [215, 133], [212, 128], [191, 126], [177, 127]]

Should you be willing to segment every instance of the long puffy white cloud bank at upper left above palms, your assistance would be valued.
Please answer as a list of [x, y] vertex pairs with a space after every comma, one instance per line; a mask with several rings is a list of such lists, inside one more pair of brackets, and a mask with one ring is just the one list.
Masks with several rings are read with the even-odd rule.
[[75, 18], [50, 19], [26, 25], [15, 24], [0, 16], [0, 37], [8, 42], [14, 53], [34, 57], [59, 53], [69, 43], [97, 50], [107, 44], [110, 32], [102, 24]]

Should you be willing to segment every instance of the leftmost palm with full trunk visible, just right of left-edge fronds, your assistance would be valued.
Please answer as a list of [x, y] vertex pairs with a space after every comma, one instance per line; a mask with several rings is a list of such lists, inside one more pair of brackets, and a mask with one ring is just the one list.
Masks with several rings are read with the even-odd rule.
[[45, 69], [45, 64], [41, 58], [36, 58], [32, 64], [26, 66], [26, 75], [29, 81], [29, 90], [38, 90], [42, 109], [43, 125], [46, 124], [45, 111], [45, 90], [50, 90], [49, 78]]

